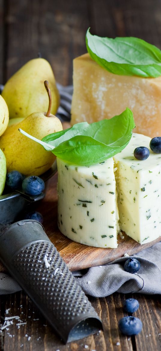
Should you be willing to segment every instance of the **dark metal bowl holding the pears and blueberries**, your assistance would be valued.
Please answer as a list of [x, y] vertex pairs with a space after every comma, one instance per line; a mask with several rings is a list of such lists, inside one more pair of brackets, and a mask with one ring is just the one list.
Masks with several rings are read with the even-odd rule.
[[[57, 172], [57, 163], [54, 161], [52, 167], [41, 175], [46, 182]], [[6, 190], [5, 190], [6, 192]], [[14, 190], [11, 193], [4, 193], [0, 196], [0, 223], [7, 224], [19, 220], [24, 212], [27, 211], [31, 204], [42, 200], [45, 192], [30, 196], [23, 192], [22, 189]]]

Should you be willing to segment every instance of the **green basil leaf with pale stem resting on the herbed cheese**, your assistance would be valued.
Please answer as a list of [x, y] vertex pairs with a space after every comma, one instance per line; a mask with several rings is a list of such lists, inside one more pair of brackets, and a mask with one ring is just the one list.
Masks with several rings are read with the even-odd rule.
[[[126, 108], [120, 115], [88, 124], [82, 122], [42, 139], [52, 145], [57, 157], [76, 165], [90, 166], [120, 152], [129, 143], [135, 127], [133, 113]], [[46, 150], [47, 147], [43, 145]]]

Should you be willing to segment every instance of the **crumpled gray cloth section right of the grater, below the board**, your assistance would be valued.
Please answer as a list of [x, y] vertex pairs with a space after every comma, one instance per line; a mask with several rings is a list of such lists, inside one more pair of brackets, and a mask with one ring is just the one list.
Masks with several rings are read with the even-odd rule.
[[85, 274], [81, 271], [73, 273], [85, 293], [94, 297], [108, 296], [115, 291], [161, 294], [161, 242], [130, 257], [140, 261], [140, 269], [135, 274], [124, 271], [128, 257], [91, 267]]

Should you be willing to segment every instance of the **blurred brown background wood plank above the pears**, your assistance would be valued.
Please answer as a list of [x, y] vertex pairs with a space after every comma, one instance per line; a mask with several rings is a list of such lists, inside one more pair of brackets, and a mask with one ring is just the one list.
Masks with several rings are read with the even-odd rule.
[[49, 60], [56, 80], [72, 84], [72, 59], [86, 51], [86, 1], [9, 1], [7, 78], [25, 62]]

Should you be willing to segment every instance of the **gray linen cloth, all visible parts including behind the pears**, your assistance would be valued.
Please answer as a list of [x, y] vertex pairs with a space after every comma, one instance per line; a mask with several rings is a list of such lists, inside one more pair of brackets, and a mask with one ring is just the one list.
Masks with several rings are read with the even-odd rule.
[[[62, 87], [60, 84], [57, 86], [60, 93], [57, 116], [62, 121], [69, 121], [73, 87]], [[0, 86], [0, 90], [2, 88], [3, 86]], [[137, 256], [130, 257], [135, 257], [140, 261], [141, 267], [138, 273], [125, 272], [123, 265], [128, 257], [122, 257], [110, 264], [75, 271], [73, 274], [85, 293], [94, 297], [108, 296], [115, 291], [161, 294], [161, 242], [140, 251]], [[12, 277], [0, 273], [0, 294], [20, 290], [21, 287]]]

